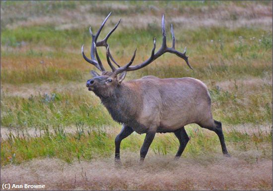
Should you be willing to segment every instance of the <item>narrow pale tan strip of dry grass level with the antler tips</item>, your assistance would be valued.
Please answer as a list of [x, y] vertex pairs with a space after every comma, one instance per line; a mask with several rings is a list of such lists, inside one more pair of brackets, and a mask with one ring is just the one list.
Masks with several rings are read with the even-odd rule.
[[[74, 17], [75, 18], [75, 17]], [[54, 24], [56, 25], [56, 30], [68, 30], [68, 29], [78, 29], [82, 28], [83, 26], [86, 26], [86, 23], [92, 23], [92, 27], [98, 28], [99, 25], [97, 20], [103, 20], [104, 18], [100, 18], [96, 15], [87, 14], [81, 18], [81, 20], [78, 20], [74, 23], [69, 23], [68, 21], [71, 21], [69, 18], [58, 18], [56, 17], [34, 17], [29, 18], [27, 21], [19, 21], [18, 23], [7, 25], [9, 29], [16, 29], [18, 26], [21, 27], [30, 27], [35, 25], [40, 25], [41, 23], [45, 24]], [[113, 24], [117, 22], [120, 19], [120, 16], [112, 16], [111, 18], [113, 21]], [[75, 20], [75, 19], [74, 19]], [[141, 15], [137, 17], [123, 17], [121, 28], [132, 28], [135, 29], [146, 29], [153, 23], [159, 23], [161, 22], [160, 16], [153, 16], [153, 15]], [[168, 18], [169, 23], [176, 24], [176, 28], [178, 29], [196, 29], [199, 27], [227, 27], [231, 29], [236, 29], [240, 27], [253, 27], [253, 26], [259, 26], [259, 28], [271, 30], [272, 29], [272, 16], [264, 16], [262, 18], [242, 18], [238, 20], [225, 20], [224, 18], [219, 18], [217, 15], [214, 16], [214, 18], [206, 18], [206, 17], [189, 17], [189, 16], [177, 16], [175, 18]], [[183, 25], [183, 27], [181, 27]], [[110, 26], [106, 26], [106, 31], [111, 30]]]

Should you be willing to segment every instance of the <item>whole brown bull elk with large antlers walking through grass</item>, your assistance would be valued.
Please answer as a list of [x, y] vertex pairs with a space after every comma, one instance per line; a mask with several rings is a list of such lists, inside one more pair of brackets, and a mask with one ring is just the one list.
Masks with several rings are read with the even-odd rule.
[[[92, 33], [91, 27], [89, 28], [92, 36], [91, 59], [84, 54], [83, 46], [82, 56], [102, 72], [99, 75], [97, 72], [91, 71], [93, 78], [87, 81], [86, 87], [101, 99], [102, 104], [107, 108], [112, 118], [123, 124], [120, 134], [115, 139], [115, 161], [120, 161], [121, 141], [134, 131], [138, 134], [146, 134], [140, 149], [140, 161], [144, 160], [155, 133], [167, 132], [173, 132], [179, 140], [180, 145], [176, 153], [176, 157], [179, 158], [189, 142], [184, 126], [191, 123], [196, 123], [202, 128], [214, 131], [219, 137], [223, 154], [229, 156], [221, 122], [212, 118], [210, 96], [203, 82], [188, 77], [160, 79], [154, 76], [144, 76], [137, 80], [123, 82], [126, 72], [145, 67], [166, 52], [176, 54], [184, 59], [187, 65], [193, 69], [188, 61], [188, 56], [186, 56], [186, 48], [183, 53], [175, 49], [175, 36], [172, 25], [172, 47], [167, 47], [164, 15], [162, 16], [163, 39], [159, 50], [155, 52], [156, 40], [154, 38], [151, 56], [147, 60], [131, 66], [136, 56], [135, 50], [130, 62], [122, 67], [111, 55], [107, 43], [108, 38], [116, 30], [121, 20], [102, 41], [97, 42], [99, 34], [110, 15], [111, 12], [96, 34]], [[106, 48], [106, 58], [112, 69], [111, 72], [105, 71], [97, 47]]]

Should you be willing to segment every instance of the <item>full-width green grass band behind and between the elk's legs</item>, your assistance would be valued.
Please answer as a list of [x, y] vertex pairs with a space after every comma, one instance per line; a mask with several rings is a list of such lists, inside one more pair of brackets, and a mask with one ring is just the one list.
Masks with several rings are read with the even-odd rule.
[[[57, 157], [72, 163], [74, 160], [90, 160], [113, 155], [115, 136], [99, 129], [95, 130], [90, 126], [85, 127], [82, 122], [77, 123], [76, 127], [77, 130], [74, 133], [67, 133], [63, 126], [57, 126], [54, 128], [54, 132], [50, 132], [47, 125], [36, 129], [34, 136], [29, 135], [26, 130], [8, 133], [7, 138], [1, 141], [1, 165], [20, 164], [25, 160], [37, 157]], [[205, 153], [221, 152], [216, 134], [207, 134], [207, 130], [196, 128], [196, 126], [187, 129], [187, 132], [191, 141], [184, 151], [185, 157], [198, 157]], [[23, 136], [20, 136], [22, 134]], [[124, 150], [139, 151], [144, 135], [134, 134], [122, 142], [122, 152]], [[225, 138], [227, 145], [234, 145], [233, 149], [235, 147], [247, 151], [252, 149], [252, 145], [255, 145], [256, 149], [263, 153], [262, 158], [272, 157], [272, 150], [268, 150], [268, 147], [264, 146], [265, 143], [272, 141], [272, 129], [270, 128], [266, 133], [259, 131], [254, 134], [242, 133], [234, 129], [225, 133]], [[175, 136], [167, 134], [156, 136], [150, 150], [154, 154], [174, 155], [178, 145]], [[246, 158], [245, 160], [254, 162], [256, 158]]]

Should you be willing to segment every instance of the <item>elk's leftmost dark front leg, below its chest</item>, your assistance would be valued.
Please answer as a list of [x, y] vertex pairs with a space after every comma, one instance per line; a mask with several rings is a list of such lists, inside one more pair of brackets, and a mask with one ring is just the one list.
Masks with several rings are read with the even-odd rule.
[[119, 135], [117, 135], [115, 139], [115, 146], [116, 146], [116, 151], [115, 151], [115, 161], [119, 162], [120, 161], [120, 145], [121, 141], [125, 138], [127, 138], [129, 135], [131, 135], [134, 132], [134, 130], [131, 127], [128, 127], [126, 125], [123, 125], [122, 130]]

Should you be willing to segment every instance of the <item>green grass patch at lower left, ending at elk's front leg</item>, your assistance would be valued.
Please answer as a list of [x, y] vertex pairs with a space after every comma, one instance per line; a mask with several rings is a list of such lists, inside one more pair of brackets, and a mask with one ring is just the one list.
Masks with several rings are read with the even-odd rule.
[[[39, 135], [41, 131], [45, 134]], [[29, 137], [25, 133], [24, 137], [19, 138], [10, 133], [8, 140], [1, 143], [1, 156], [5, 158], [1, 160], [1, 165], [9, 162], [20, 163], [40, 156], [58, 157], [71, 163], [74, 158], [91, 159], [94, 156], [109, 155], [113, 147], [110, 143], [112, 140], [104, 132], [97, 133], [90, 129], [83, 133], [80, 127], [77, 134], [68, 134], [60, 127], [50, 133], [48, 127], [44, 126], [37, 134], [37, 137]]]

